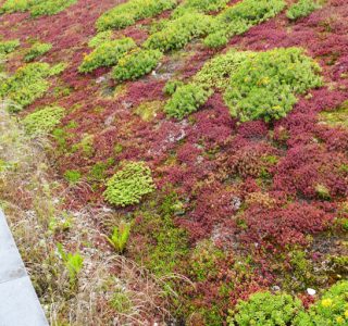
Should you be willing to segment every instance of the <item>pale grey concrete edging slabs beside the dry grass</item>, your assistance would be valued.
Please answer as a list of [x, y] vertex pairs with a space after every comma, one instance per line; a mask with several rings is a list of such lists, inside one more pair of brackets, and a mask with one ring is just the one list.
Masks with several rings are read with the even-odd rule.
[[0, 210], [0, 326], [48, 326], [4, 214]]

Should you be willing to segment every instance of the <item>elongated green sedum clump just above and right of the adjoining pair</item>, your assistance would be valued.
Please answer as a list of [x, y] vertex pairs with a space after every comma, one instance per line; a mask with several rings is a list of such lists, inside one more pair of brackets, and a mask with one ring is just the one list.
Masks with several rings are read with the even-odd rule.
[[212, 16], [189, 12], [164, 24], [145, 41], [144, 47], [162, 52], [182, 49], [194, 38], [207, 35], [213, 23]]

